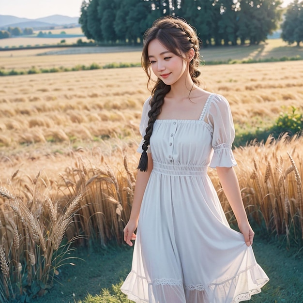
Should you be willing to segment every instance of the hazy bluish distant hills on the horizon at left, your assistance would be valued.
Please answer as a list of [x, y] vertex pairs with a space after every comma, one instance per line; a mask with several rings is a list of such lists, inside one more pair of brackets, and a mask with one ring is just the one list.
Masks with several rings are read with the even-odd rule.
[[28, 19], [19, 18], [10, 15], [0, 15], [0, 28], [19, 27], [33, 29], [47, 29], [50, 27], [62, 25], [78, 25], [78, 17], [69, 17], [63, 15], [51, 15], [43, 18]]

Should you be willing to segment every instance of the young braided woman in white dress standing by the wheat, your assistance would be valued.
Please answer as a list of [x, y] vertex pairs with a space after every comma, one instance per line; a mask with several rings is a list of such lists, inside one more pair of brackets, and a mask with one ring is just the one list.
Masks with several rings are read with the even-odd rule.
[[[254, 257], [233, 170], [230, 108], [198, 87], [199, 63], [196, 32], [184, 20], [163, 17], [146, 31], [142, 66], [157, 81], [143, 106], [142, 155], [124, 228], [126, 243], [136, 242], [121, 287], [135, 302], [241, 302], [269, 280]], [[241, 233], [228, 225], [208, 166], [217, 170]]]

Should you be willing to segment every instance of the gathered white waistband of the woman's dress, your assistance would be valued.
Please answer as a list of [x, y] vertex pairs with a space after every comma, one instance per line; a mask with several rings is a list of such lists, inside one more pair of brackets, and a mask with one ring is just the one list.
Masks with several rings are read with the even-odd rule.
[[207, 166], [169, 165], [153, 161], [152, 171], [169, 176], [205, 176]]

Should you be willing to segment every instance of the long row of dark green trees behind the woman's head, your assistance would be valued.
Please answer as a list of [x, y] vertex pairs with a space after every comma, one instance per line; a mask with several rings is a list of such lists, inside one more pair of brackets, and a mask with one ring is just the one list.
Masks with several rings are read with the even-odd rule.
[[277, 29], [281, 0], [84, 0], [79, 23], [98, 42], [141, 42], [164, 15], [183, 17], [203, 45], [259, 44]]

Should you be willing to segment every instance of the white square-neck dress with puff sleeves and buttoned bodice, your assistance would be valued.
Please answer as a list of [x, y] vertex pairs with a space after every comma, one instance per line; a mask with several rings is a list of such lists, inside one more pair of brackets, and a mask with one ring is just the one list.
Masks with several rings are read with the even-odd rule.
[[[150, 110], [143, 106], [144, 136]], [[121, 291], [139, 303], [231, 303], [268, 282], [251, 246], [231, 229], [207, 167], [232, 167], [227, 100], [208, 98], [199, 120], [156, 120], [153, 169], [139, 215], [132, 270]], [[142, 143], [138, 152], [142, 152]]]

